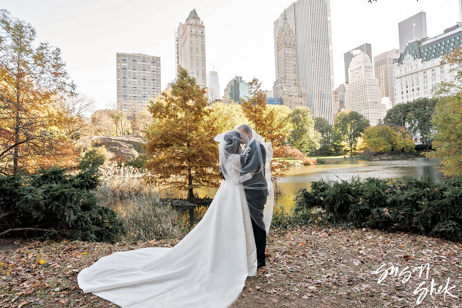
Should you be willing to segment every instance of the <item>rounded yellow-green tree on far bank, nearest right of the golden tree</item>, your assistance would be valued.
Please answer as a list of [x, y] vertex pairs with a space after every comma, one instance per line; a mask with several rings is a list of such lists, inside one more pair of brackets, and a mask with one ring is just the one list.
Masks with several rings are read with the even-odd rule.
[[315, 130], [315, 121], [308, 107], [297, 107], [287, 119], [292, 123], [292, 130], [287, 136], [287, 142], [292, 147], [310, 153], [319, 149], [321, 134]]

